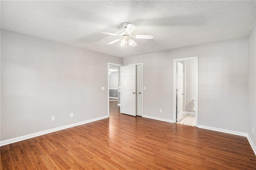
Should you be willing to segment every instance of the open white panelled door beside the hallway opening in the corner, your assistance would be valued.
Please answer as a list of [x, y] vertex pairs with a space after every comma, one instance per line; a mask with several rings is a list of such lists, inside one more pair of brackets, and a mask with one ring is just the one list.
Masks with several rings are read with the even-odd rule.
[[121, 68], [121, 113], [136, 116], [136, 65], [127, 65]]

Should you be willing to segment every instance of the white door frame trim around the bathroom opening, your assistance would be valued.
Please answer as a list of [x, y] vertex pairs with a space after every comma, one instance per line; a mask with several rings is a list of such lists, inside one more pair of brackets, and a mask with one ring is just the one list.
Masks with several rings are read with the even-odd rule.
[[178, 61], [186, 61], [196, 59], [196, 127], [198, 127], [198, 56], [196, 57], [186, 57], [186, 58], [178, 58], [173, 59], [173, 122], [177, 122], [177, 98], [176, 98], [176, 89], [177, 89], [177, 62]]

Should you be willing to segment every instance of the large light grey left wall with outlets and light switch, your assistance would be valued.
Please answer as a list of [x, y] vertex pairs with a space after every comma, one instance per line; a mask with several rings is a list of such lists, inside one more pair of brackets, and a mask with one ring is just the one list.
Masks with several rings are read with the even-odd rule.
[[123, 58], [1, 29], [0, 140], [107, 116], [108, 62]]

